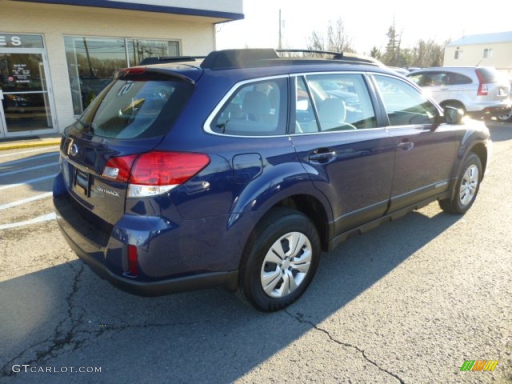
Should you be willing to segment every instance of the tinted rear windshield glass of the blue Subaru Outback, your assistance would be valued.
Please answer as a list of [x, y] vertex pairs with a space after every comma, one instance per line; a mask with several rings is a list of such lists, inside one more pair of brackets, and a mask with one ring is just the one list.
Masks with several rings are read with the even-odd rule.
[[125, 75], [107, 87], [78, 119], [94, 135], [135, 139], [164, 135], [194, 86], [159, 74]]

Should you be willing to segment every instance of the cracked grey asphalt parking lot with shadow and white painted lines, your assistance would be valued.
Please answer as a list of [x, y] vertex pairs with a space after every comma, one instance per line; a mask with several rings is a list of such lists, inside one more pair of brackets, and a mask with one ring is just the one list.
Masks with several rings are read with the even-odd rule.
[[349, 239], [271, 314], [222, 289], [113, 288], [57, 229], [58, 148], [0, 151], [0, 381], [512, 383], [512, 124], [489, 129], [465, 216], [434, 203]]

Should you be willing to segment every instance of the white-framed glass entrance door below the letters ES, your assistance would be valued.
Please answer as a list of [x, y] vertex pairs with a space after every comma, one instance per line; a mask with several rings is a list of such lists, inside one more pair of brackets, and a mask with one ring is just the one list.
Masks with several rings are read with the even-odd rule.
[[6, 136], [53, 129], [42, 53], [0, 52], [0, 89]]

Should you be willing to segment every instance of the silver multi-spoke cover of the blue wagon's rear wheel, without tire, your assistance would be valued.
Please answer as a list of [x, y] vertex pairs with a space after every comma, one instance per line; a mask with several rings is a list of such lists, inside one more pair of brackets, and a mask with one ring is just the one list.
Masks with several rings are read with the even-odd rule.
[[289, 232], [268, 250], [261, 267], [261, 285], [271, 297], [284, 297], [306, 278], [311, 266], [312, 247], [301, 232]]

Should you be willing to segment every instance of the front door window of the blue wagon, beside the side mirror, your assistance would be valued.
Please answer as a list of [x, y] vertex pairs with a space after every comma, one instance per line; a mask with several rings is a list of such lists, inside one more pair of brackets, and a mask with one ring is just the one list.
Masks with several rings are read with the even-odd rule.
[[375, 75], [382, 102], [392, 126], [433, 124], [436, 106], [410, 84], [390, 76]]

